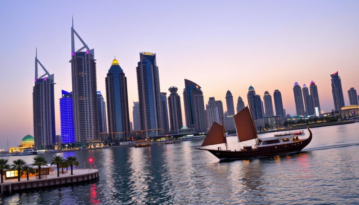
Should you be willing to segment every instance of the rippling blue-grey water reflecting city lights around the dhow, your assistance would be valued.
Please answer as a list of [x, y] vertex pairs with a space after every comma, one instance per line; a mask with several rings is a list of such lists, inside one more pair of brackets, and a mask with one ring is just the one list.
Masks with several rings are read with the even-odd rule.
[[[99, 182], [14, 194], [0, 204], [359, 204], [358, 128], [313, 128], [301, 153], [242, 161], [194, 149], [202, 140], [57, 153], [78, 157], [79, 168], [94, 158]], [[228, 141], [238, 149], [236, 137]]]

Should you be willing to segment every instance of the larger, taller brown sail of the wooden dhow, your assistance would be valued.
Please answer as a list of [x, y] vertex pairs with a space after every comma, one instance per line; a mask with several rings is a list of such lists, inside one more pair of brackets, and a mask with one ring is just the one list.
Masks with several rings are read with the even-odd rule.
[[238, 142], [257, 138], [257, 130], [248, 106], [234, 115], [233, 118], [236, 123]]

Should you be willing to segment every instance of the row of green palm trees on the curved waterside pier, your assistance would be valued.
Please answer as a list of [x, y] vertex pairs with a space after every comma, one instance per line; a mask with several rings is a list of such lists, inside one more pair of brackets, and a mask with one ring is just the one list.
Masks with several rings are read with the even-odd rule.
[[[18, 181], [20, 181], [20, 176], [26, 175], [27, 180], [29, 180], [29, 175], [34, 174], [35, 170], [33, 169], [34, 166], [38, 167], [39, 169], [39, 179], [41, 179], [41, 167], [47, 166], [47, 160], [43, 156], [34, 157], [34, 163], [32, 165], [25, 165], [26, 162], [23, 159], [16, 159], [13, 161], [13, 164], [9, 165], [9, 159], [0, 159], [0, 175], [1, 175], [1, 183], [3, 183], [3, 175], [4, 170], [17, 170], [18, 172]], [[79, 166], [79, 161], [74, 156], [69, 156], [66, 159], [62, 156], [55, 155], [51, 159], [51, 165], [57, 166], [57, 177], [60, 177], [60, 167], [62, 172], [64, 172], [64, 167], [71, 168], [71, 175], [73, 175], [73, 167], [76, 168]]]

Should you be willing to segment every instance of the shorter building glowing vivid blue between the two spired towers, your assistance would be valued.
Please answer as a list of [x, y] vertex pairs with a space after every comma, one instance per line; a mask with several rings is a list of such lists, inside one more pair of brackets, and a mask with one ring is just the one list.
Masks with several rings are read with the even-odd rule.
[[74, 100], [72, 92], [61, 90], [60, 98], [61, 142], [75, 142]]

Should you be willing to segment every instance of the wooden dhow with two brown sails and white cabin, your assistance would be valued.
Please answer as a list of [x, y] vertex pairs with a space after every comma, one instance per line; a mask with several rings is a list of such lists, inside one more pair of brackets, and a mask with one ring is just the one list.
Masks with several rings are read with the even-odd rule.
[[[255, 157], [268, 157], [286, 153], [300, 152], [312, 140], [312, 132], [308, 127], [309, 137], [306, 138], [304, 131], [288, 132], [276, 134], [273, 137], [258, 138], [257, 130], [248, 106], [234, 115], [236, 124], [238, 144], [248, 140], [255, 140], [252, 146], [238, 147], [230, 150], [225, 137], [224, 126], [214, 122], [208, 135], [204, 139], [200, 150], [205, 150], [222, 159], [248, 159]], [[218, 147], [217, 149], [206, 148], [215, 144], [225, 144], [225, 150]]]

